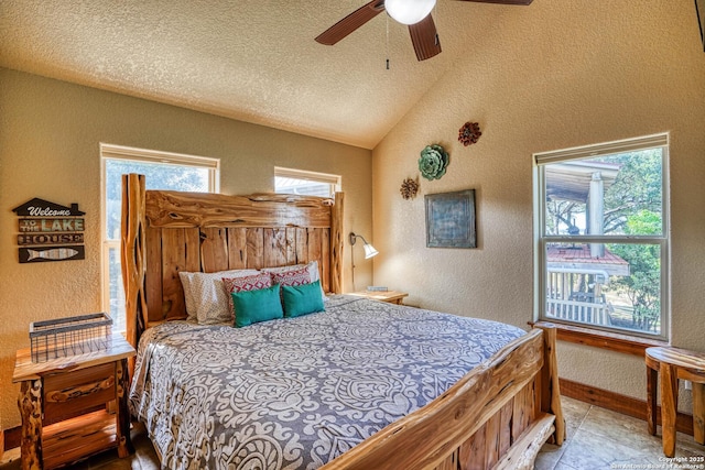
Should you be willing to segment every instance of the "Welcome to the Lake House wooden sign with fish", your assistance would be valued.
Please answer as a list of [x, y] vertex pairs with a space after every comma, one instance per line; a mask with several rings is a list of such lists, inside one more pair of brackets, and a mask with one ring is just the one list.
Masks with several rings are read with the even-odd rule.
[[34, 198], [12, 209], [18, 219], [20, 263], [84, 260], [86, 212], [78, 204], [70, 207]]

